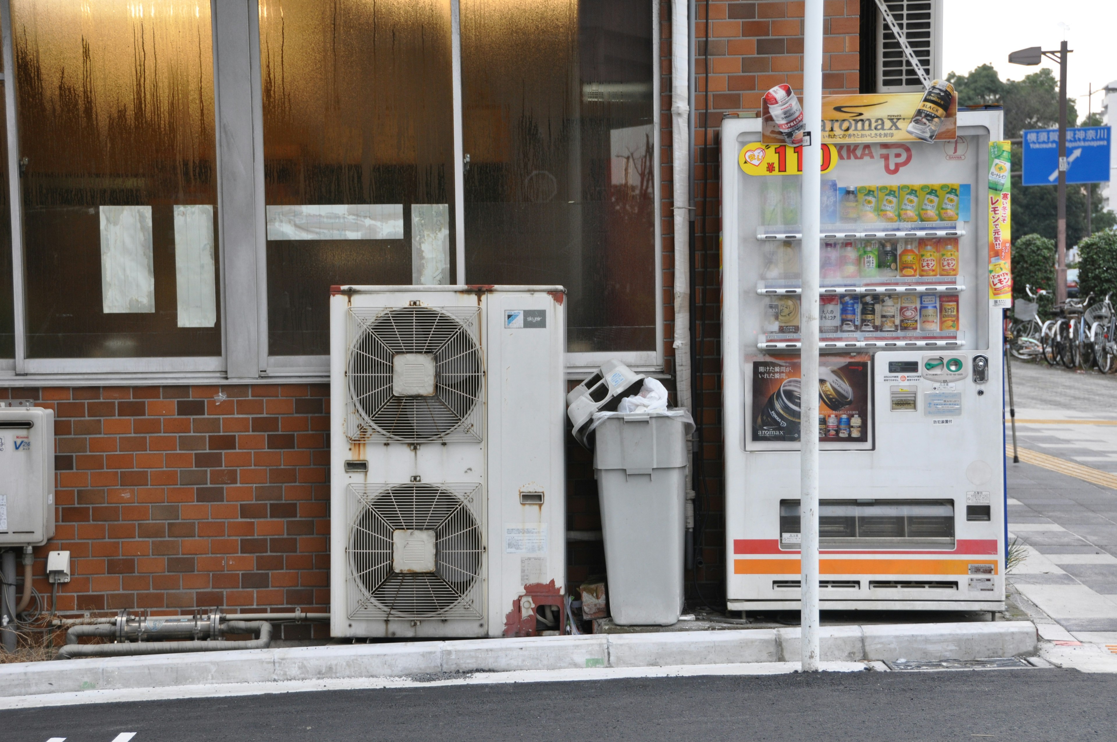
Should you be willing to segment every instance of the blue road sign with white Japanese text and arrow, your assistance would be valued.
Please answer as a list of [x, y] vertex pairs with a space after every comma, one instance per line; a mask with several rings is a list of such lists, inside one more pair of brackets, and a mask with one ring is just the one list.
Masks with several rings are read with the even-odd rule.
[[[1024, 185], [1059, 182], [1059, 130], [1025, 129]], [[1102, 183], [1109, 180], [1109, 127], [1067, 130], [1067, 182]]]

